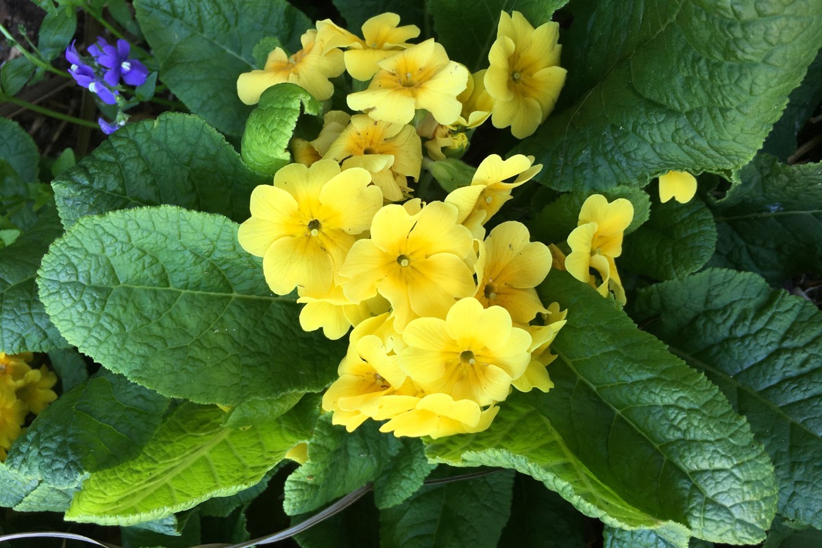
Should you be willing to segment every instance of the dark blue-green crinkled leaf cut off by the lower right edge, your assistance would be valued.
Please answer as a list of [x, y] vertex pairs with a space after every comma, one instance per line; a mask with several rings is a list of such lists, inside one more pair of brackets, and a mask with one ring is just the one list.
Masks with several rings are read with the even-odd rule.
[[774, 461], [779, 513], [822, 527], [822, 312], [721, 269], [644, 289], [635, 310], [747, 417]]

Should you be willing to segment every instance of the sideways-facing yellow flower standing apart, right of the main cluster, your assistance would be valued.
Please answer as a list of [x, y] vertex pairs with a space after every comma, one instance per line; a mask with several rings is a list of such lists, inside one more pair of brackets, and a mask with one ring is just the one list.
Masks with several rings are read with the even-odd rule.
[[[570, 254], [566, 270], [581, 282], [589, 283], [600, 295], [612, 289], [617, 302], [626, 303], [625, 289], [614, 259], [622, 254], [622, 236], [634, 217], [634, 206], [625, 198], [608, 203], [605, 196], [594, 194], [582, 205], [579, 226], [568, 235]], [[597, 284], [590, 269], [603, 280]]]

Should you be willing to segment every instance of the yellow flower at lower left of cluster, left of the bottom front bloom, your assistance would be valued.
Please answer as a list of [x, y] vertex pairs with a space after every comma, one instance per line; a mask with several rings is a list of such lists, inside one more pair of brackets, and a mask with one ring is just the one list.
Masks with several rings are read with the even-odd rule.
[[[349, 352], [339, 364], [339, 379], [322, 397], [322, 408], [334, 412], [331, 422], [354, 431], [377, 412], [379, 400], [392, 394], [405, 382], [397, 366], [399, 357], [388, 355], [376, 335], [359, 338], [355, 352]], [[354, 344], [352, 344], [354, 346]]]

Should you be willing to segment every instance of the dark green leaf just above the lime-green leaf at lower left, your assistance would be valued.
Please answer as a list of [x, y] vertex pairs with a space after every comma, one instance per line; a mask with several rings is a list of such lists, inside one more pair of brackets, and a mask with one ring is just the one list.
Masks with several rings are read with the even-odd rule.
[[140, 454], [168, 407], [168, 398], [100, 370], [39, 414], [9, 451], [7, 465], [51, 486], [74, 486], [86, 472]]

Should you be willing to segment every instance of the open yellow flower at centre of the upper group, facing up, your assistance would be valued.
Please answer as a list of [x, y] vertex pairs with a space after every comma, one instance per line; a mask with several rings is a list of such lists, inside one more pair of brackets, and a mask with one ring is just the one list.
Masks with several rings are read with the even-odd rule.
[[450, 61], [446, 49], [427, 39], [377, 63], [381, 68], [368, 89], [349, 94], [349, 108], [367, 112], [375, 120], [407, 124], [414, 111], [424, 108], [437, 122], [452, 124], [462, 104], [457, 100], [469, 71]]

